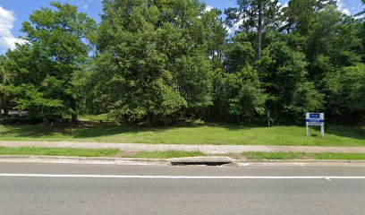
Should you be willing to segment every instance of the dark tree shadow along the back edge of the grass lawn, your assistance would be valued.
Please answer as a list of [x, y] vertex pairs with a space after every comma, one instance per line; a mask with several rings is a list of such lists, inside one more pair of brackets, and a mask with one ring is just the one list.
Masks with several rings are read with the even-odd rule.
[[[17, 137], [29, 137], [29, 138], [50, 138], [53, 136], [57, 138], [98, 138], [112, 136], [123, 133], [164, 133], [169, 130], [178, 128], [223, 128], [229, 131], [248, 131], [254, 128], [265, 128], [255, 126], [243, 126], [243, 125], [226, 125], [226, 124], [194, 124], [187, 123], [183, 125], [174, 126], [157, 126], [147, 127], [143, 125], [81, 125], [76, 128], [72, 128], [70, 125], [3, 125], [3, 129], [0, 127], [0, 140], [5, 138], [17, 138]], [[265, 133], [265, 132], [263, 132]], [[326, 128], [326, 133], [334, 134], [336, 136], [348, 137], [353, 139], [365, 140], [365, 127], [351, 127], [330, 125]]]

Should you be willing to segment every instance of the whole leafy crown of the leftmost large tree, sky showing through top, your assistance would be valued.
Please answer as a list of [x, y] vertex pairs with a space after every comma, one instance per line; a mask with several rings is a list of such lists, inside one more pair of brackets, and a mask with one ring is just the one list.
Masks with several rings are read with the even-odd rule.
[[15, 103], [34, 115], [76, 116], [72, 76], [81, 71], [92, 50], [96, 23], [86, 13], [78, 13], [75, 6], [56, 2], [51, 5], [55, 10], [42, 8], [30, 15], [30, 22], [22, 24], [30, 44], [7, 54], [19, 75], [14, 84], [22, 88]]

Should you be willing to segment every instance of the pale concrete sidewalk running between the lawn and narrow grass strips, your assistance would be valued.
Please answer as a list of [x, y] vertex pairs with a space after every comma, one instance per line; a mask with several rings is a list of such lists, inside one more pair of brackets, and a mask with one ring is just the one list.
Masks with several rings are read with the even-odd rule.
[[0, 142], [0, 147], [46, 147], [80, 149], [119, 149], [124, 151], [201, 151], [207, 154], [257, 152], [339, 152], [365, 153], [365, 147], [325, 147], [325, 146], [276, 146], [276, 145], [178, 145], [178, 144], [142, 144], [107, 142]]

